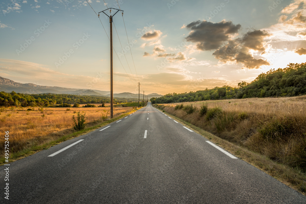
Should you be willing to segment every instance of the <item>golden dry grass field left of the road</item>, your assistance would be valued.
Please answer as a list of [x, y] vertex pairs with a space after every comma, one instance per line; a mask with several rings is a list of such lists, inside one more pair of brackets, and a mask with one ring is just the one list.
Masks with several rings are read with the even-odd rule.
[[[0, 145], [4, 147], [4, 132], [9, 131], [10, 154], [41, 145], [73, 133], [72, 116], [85, 113], [87, 125], [94, 126], [110, 117], [110, 107], [9, 107], [0, 108]], [[110, 104], [105, 104], [106, 106]], [[29, 111], [28, 108], [33, 109]], [[133, 107], [114, 107], [114, 118], [130, 112]], [[4, 155], [4, 148], [1, 148]]]

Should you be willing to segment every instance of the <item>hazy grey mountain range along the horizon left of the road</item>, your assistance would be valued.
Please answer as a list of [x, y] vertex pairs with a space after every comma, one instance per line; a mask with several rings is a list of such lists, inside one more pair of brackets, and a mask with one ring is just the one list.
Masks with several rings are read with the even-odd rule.
[[[74, 94], [74, 95], [88, 95], [88, 96], [110, 96], [110, 91], [100, 91], [96, 89], [72, 89], [58, 86], [41, 86], [32, 83], [18, 83], [8, 78], [0, 76], [0, 91], [10, 93], [15, 91], [16, 93], [28, 93], [28, 94], [39, 94], [39, 93], [57, 93], [57, 94]], [[147, 96], [148, 99], [152, 97], [161, 97], [162, 95], [157, 93], [151, 93], [148, 95], [140, 94], [140, 98]], [[114, 97], [118, 98], [138, 98], [138, 94], [135, 93], [114, 93]]]

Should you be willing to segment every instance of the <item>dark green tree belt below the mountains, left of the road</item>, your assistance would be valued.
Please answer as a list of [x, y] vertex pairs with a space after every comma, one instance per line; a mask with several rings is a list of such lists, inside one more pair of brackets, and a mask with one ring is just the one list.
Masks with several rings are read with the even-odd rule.
[[[138, 101], [136, 98], [114, 98], [114, 104]], [[110, 97], [102, 96], [80, 96], [71, 94], [24, 94], [0, 92], [0, 106], [22, 106], [22, 107], [48, 107], [58, 106], [62, 107], [63, 104], [103, 104], [110, 103]]]

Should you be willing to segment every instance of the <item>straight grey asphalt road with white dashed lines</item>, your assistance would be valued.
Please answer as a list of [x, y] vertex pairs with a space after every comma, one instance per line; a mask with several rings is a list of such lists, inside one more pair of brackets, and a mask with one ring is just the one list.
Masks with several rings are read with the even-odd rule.
[[0, 203], [306, 203], [297, 191], [225, 153], [149, 103], [1, 166]]

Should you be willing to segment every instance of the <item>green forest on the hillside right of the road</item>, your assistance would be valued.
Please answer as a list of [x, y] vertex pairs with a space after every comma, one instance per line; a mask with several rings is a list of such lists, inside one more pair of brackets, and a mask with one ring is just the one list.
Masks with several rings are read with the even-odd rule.
[[216, 86], [196, 92], [169, 93], [151, 98], [152, 104], [177, 103], [201, 100], [241, 99], [253, 97], [285, 97], [306, 94], [306, 63], [290, 63], [286, 68], [271, 69], [251, 83], [240, 82], [238, 87]]

